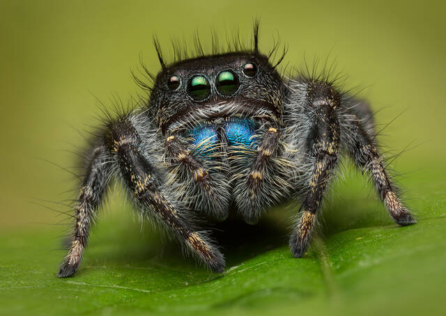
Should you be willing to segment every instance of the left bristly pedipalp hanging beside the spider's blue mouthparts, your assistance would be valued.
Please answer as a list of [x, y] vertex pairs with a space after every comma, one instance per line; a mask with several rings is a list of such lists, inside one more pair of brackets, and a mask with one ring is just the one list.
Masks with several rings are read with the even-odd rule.
[[167, 137], [164, 146], [167, 157], [179, 168], [175, 174], [182, 175], [180, 180], [191, 184], [192, 192], [188, 193], [188, 198], [192, 199], [195, 209], [208, 212], [220, 221], [226, 219], [231, 201], [226, 176], [218, 171], [213, 173], [215, 166], [208, 168], [176, 136]]

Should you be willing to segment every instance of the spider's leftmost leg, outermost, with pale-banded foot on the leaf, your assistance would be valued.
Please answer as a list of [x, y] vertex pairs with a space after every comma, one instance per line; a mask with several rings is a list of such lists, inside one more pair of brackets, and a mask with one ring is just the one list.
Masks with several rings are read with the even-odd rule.
[[75, 229], [72, 234], [70, 250], [57, 274], [59, 278], [67, 278], [75, 274], [82, 260], [82, 253], [89, 237], [93, 217], [98, 210], [109, 180], [110, 164], [107, 162], [108, 157], [108, 152], [104, 146], [99, 146], [93, 150], [93, 156], [90, 159], [77, 198]]

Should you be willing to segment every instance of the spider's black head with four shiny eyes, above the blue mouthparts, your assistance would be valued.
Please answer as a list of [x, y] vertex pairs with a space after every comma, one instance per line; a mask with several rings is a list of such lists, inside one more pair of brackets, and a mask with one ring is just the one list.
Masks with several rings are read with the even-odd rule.
[[163, 132], [201, 120], [282, 114], [282, 78], [259, 54], [180, 61], [157, 75], [151, 106]]

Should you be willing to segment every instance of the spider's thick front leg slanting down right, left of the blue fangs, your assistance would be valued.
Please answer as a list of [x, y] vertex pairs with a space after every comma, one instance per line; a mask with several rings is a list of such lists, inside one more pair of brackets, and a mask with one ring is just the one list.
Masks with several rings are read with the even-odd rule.
[[109, 143], [141, 212], [155, 218], [212, 271], [222, 272], [223, 255], [190, 223], [190, 216], [175, 192], [162, 185], [153, 164], [141, 150], [141, 139], [128, 118], [120, 118], [115, 123]]

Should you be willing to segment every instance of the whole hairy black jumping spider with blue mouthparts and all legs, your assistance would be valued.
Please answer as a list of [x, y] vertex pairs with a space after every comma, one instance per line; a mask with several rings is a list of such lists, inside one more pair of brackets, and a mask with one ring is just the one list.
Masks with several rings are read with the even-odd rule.
[[322, 79], [283, 79], [258, 52], [257, 28], [252, 50], [160, 61], [149, 101], [110, 119], [94, 141], [60, 277], [79, 267], [113, 175], [141, 214], [218, 272], [224, 257], [194, 219], [222, 221], [234, 205], [254, 224], [271, 205], [299, 200], [290, 246], [301, 257], [340, 150], [369, 173], [395, 222], [415, 223], [383, 166], [368, 104]]

